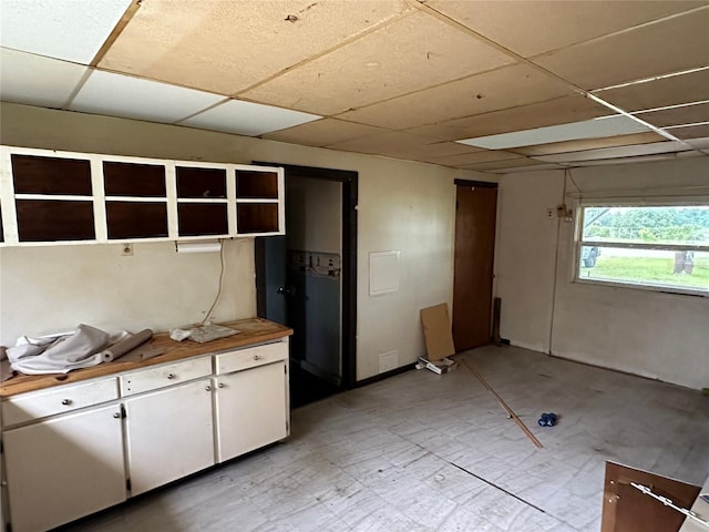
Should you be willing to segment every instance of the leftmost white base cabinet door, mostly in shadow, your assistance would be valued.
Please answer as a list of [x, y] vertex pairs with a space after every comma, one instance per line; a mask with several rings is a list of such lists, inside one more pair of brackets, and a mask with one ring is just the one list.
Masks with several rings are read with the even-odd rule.
[[48, 530], [125, 501], [119, 406], [7, 430], [2, 440], [14, 532]]

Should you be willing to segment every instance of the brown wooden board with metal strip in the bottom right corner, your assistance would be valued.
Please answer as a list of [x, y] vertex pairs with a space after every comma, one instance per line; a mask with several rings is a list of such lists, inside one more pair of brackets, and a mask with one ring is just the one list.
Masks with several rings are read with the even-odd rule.
[[646, 495], [630, 483], [643, 484], [655, 493], [689, 508], [699, 488], [659, 474], [606, 462], [602, 532], [678, 532], [685, 515]]

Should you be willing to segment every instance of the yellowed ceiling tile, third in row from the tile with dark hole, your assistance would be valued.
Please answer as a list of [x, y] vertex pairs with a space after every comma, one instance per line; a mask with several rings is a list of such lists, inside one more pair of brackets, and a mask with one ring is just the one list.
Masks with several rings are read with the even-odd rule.
[[340, 116], [399, 130], [568, 94], [573, 94], [573, 90], [566, 84], [532, 66], [516, 64], [348, 111]]

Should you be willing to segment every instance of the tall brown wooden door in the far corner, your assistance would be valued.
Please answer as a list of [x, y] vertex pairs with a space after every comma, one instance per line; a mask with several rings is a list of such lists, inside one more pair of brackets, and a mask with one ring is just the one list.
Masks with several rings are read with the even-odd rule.
[[456, 182], [453, 342], [490, 344], [497, 187]]

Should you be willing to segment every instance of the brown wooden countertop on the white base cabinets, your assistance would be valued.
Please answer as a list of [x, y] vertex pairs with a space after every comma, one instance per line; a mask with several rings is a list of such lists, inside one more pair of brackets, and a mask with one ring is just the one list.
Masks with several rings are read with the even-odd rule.
[[48, 375], [17, 375], [0, 385], [0, 397], [8, 397], [25, 391], [41, 390], [52, 386], [66, 385], [70, 382], [79, 382], [81, 380], [103, 377], [119, 371], [143, 368], [156, 364], [172, 362], [183, 358], [206, 355], [210, 352], [226, 351], [239, 347], [251, 346], [269, 340], [277, 340], [286, 336], [292, 335], [292, 329], [282, 325], [268, 321], [263, 318], [248, 318], [228, 324], [219, 324], [242, 332], [220, 338], [218, 340], [198, 344], [193, 340], [175, 341], [169, 338], [167, 332], [158, 332], [153, 336], [150, 345], [156, 349], [164, 349], [165, 352], [157, 357], [151, 358], [142, 362], [125, 362], [121, 359], [112, 362], [102, 362], [91, 368], [76, 369], [68, 374], [48, 374]]

